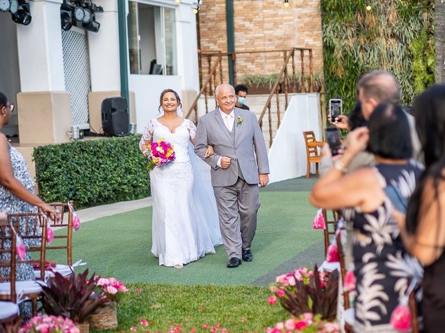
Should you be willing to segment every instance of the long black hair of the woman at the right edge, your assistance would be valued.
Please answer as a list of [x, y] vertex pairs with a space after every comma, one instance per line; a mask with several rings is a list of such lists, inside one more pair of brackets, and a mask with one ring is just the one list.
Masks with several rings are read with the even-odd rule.
[[[417, 96], [414, 101], [413, 115], [416, 119], [416, 129], [425, 157], [426, 170], [407, 207], [406, 227], [411, 234], [416, 232], [419, 224], [422, 194], [427, 180], [432, 179], [434, 197], [438, 204], [439, 184], [445, 180], [442, 176], [442, 170], [445, 168], [445, 85], [433, 85], [426, 92]], [[440, 216], [438, 219], [437, 222], [442, 223]]]

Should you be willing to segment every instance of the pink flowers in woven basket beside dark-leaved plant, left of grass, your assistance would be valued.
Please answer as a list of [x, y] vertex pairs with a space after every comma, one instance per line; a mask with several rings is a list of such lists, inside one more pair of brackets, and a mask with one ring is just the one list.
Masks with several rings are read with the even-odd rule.
[[90, 327], [94, 330], [110, 330], [118, 327], [116, 305], [122, 293], [128, 291], [127, 287], [115, 278], [98, 278], [95, 289], [102, 291], [105, 302], [90, 316]]

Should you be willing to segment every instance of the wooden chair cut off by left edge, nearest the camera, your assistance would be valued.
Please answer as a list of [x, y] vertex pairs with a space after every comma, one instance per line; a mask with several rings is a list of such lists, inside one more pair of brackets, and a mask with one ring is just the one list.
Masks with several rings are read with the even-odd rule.
[[15, 291], [15, 237], [7, 222], [0, 222], [0, 284], [10, 285], [10, 300], [0, 300], [0, 326], [8, 331], [18, 320], [19, 307]]

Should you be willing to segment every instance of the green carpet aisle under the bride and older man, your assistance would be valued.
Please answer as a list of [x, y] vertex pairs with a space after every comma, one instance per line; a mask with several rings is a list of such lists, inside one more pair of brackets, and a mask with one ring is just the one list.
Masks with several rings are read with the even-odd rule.
[[[215, 255], [182, 269], [158, 265], [150, 252], [152, 207], [83, 223], [73, 237], [73, 261], [88, 263], [90, 272], [124, 282], [174, 284], [254, 284], [267, 286], [277, 274], [323, 262], [323, 232], [312, 230], [316, 209], [307, 196], [314, 178], [297, 178], [261, 190], [253, 262], [227, 269], [223, 246]], [[51, 255], [50, 260], [63, 255]], [[83, 270], [86, 266], [81, 266]]]

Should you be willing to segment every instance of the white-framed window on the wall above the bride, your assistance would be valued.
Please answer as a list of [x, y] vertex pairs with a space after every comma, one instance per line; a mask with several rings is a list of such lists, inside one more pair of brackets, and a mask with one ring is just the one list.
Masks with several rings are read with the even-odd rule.
[[131, 74], [177, 75], [175, 9], [129, 1]]

